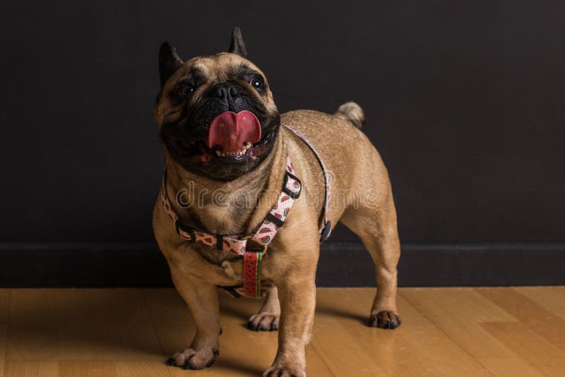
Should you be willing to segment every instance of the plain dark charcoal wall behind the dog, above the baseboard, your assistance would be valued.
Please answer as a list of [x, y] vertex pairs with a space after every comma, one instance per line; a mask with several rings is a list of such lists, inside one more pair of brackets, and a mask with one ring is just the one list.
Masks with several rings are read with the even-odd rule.
[[[158, 48], [169, 40], [184, 58], [224, 51], [236, 25], [281, 112], [333, 112], [348, 100], [364, 108], [408, 255], [430, 244], [463, 245], [444, 256], [475, 244], [485, 256], [500, 245], [561, 245], [565, 3], [353, 3], [3, 4], [5, 265], [17, 268], [8, 256], [20, 249], [57, 253], [54, 242], [152, 245]], [[338, 229], [331, 241], [357, 239]], [[565, 249], [550, 249], [563, 263]]]

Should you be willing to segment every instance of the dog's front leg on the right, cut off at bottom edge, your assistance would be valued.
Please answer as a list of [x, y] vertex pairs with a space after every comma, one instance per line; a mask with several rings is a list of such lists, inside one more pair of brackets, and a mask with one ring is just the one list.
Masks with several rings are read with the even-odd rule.
[[275, 280], [281, 305], [278, 350], [263, 377], [306, 376], [306, 346], [316, 308], [316, 261], [302, 264], [308, 268], [300, 268], [301, 264], [297, 261], [285, 276]]

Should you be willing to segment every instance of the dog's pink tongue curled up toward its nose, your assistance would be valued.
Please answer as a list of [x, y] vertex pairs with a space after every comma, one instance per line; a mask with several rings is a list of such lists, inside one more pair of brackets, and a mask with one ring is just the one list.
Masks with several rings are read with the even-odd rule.
[[217, 148], [220, 152], [239, 152], [246, 141], [256, 143], [261, 140], [261, 124], [257, 117], [244, 110], [223, 112], [215, 117], [208, 131], [208, 148]]

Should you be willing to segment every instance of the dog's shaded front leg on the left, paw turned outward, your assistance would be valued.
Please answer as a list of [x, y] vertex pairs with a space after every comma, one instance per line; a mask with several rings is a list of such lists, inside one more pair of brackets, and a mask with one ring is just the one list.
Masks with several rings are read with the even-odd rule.
[[174, 286], [189, 306], [196, 334], [188, 348], [174, 354], [167, 364], [183, 369], [203, 369], [214, 363], [219, 354], [220, 306], [218, 289], [210, 282], [186, 274], [170, 265]]

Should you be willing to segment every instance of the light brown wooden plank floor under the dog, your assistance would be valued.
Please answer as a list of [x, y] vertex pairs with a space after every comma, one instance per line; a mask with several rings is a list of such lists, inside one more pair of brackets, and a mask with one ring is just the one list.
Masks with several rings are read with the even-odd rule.
[[[402, 326], [367, 328], [373, 289], [318, 289], [308, 376], [565, 376], [565, 287], [405, 288]], [[194, 328], [172, 289], [0, 289], [0, 376], [260, 376], [276, 333], [222, 297], [220, 357], [163, 361]]]

